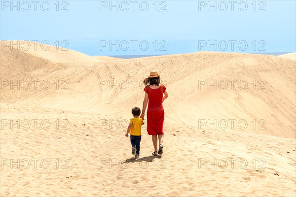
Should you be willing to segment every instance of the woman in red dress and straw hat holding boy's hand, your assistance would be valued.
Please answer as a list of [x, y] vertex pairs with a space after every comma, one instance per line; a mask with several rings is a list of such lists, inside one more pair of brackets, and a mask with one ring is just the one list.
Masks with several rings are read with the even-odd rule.
[[[168, 98], [166, 87], [160, 84], [160, 76], [157, 70], [150, 70], [150, 75], [144, 80], [146, 85], [144, 88], [145, 98], [143, 101], [143, 109], [140, 118], [144, 119], [147, 103], [147, 132], [152, 135], [152, 142], [154, 146], [154, 152], [152, 155], [157, 156], [163, 153], [163, 121], [164, 110], [162, 102]], [[164, 96], [163, 96], [164, 94]], [[148, 102], [149, 101], [149, 102]], [[159, 141], [159, 148], [157, 151], [157, 137]]]

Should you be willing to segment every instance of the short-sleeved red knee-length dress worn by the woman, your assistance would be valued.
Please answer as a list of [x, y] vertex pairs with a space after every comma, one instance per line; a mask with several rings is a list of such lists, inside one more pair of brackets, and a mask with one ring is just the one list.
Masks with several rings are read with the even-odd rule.
[[149, 135], [163, 134], [164, 110], [162, 98], [165, 90], [166, 87], [164, 85], [160, 85], [155, 90], [149, 86], [144, 88], [144, 91], [148, 94], [147, 132]]

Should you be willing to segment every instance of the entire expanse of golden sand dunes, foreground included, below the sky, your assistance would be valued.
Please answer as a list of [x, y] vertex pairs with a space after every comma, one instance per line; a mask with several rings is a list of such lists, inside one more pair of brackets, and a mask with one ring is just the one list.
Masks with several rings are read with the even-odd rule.
[[[1, 196], [295, 196], [295, 61], [216, 52], [95, 58], [1, 51], [1, 119], [40, 120], [29, 129], [2, 121], [1, 158], [52, 164], [11, 169], [5, 160]], [[169, 94], [164, 154], [150, 156], [144, 125], [135, 161], [126, 122], [142, 108], [151, 68]]]

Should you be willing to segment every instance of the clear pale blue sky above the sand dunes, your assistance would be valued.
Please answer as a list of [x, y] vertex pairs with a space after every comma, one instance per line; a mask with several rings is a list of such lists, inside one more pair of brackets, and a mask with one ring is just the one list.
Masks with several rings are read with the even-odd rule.
[[59, 43], [88, 55], [296, 51], [295, 0], [14, 0], [15, 6], [1, 0], [0, 5], [1, 40]]

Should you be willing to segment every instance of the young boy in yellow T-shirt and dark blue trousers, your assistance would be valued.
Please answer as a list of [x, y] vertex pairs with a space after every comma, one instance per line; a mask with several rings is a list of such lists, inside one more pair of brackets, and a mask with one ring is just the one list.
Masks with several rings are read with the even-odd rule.
[[139, 118], [141, 114], [139, 107], [134, 107], [132, 114], [134, 118], [130, 120], [125, 136], [128, 137], [128, 133], [131, 134], [132, 154], [136, 153], [135, 158], [138, 159], [140, 157], [141, 127], [144, 125], [144, 121]]

